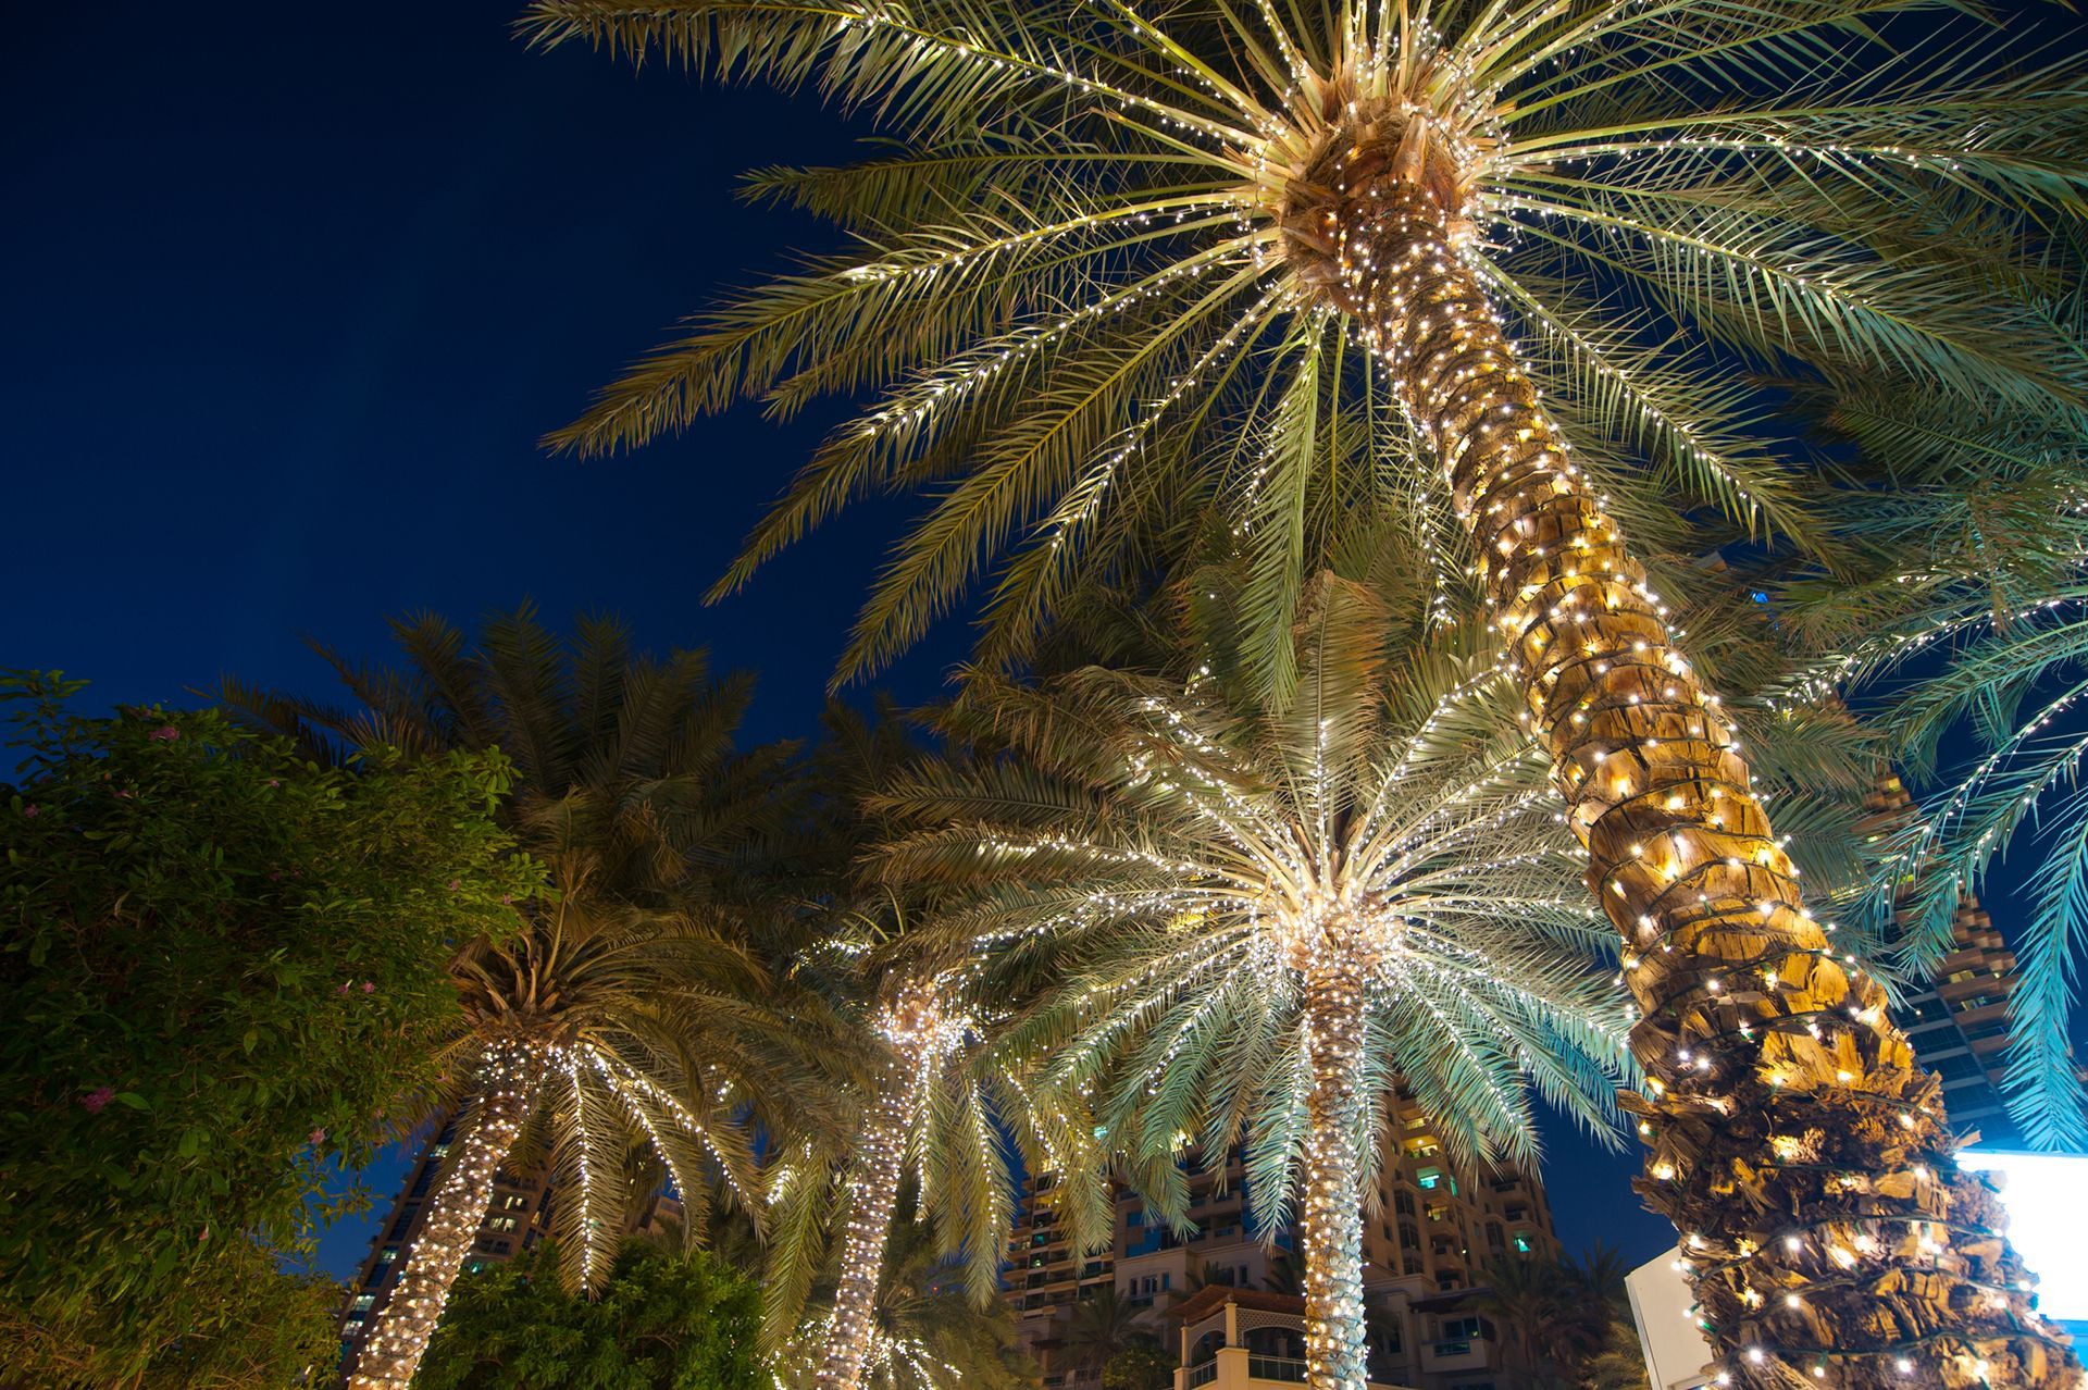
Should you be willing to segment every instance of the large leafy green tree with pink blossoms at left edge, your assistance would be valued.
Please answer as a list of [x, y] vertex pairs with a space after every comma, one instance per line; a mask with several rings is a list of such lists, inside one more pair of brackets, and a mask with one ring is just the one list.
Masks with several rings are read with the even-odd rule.
[[46, 1384], [180, 1384], [177, 1340], [230, 1365], [309, 1332], [269, 1267], [432, 1079], [451, 943], [509, 939], [539, 879], [499, 756], [328, 770], [211, 712], [71, 714], [77, 689], [0, 680], [0, 1336]]

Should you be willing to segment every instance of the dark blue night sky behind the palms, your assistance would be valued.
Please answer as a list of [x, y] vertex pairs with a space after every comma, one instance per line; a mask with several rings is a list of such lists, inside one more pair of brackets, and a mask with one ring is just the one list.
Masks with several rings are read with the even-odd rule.
[[[745, 595], [702, 591], [818, 422], [756, 411], [610, 463], [535, 438], [727, 284], [823, 246], [733, 200], [835, 161], [814, 102], [507, 38], [443, 0], [29, 6], [0, 46], [0, 666], [109, 701], [221, 674], [330, 693], [301, 634], [384, 653], [384, 616], [535, 597], [762, 672], [752, 737], [810, 733], [889, 536], [864, 509]], [[925, 699], [960, 624], [887, 687]], [[1556, 1129], [1560, 1238], [1672, 1240]], [[349, 1269], [374, 1217], [342, 1223]]]

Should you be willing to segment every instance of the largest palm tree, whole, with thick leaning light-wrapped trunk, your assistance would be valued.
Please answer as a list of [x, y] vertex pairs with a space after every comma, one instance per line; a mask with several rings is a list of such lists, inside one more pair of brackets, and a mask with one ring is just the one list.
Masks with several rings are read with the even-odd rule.
[[1165, 559], [1182, 501], [1215, 497], [1282, 687], [1328, 518], [1426, 480], [1627, 943], [1645, 1194], [1725, 1373], [2065, 1384], [1936, 1081], [1804, 908], [1624, 541], [1675, 534], [1681, 497], [1810, 543], [1748, 361], [2080, 399], [2015, 290], [2025, 227], [2082, 207], [2084, 65], [1919, 8], [535, 0], [539, 44], [816, 83], [902, 146], [756, 173], [854, 250], [735, 296], [553, 442], [875, 394], [720, 584], [858, 497], [933, 488], [844, 674], [988, 559], [986, 655], [1019, 660], [1075, 572]]

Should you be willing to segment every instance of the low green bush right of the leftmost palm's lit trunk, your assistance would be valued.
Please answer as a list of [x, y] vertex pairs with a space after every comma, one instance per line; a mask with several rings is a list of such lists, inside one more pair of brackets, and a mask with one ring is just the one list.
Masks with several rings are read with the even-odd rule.
[[568, 1294], [539, 1246], [457, 1281], [420, 1390], [770, 1390], [754, 1279], [704, 1250], [631, 1240]]

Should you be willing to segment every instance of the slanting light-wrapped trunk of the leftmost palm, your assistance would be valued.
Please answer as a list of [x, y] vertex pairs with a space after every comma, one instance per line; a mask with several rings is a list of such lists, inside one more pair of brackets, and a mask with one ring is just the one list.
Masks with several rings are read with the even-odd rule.
[[545, 1056], [526, 1044], [495, 1044], [487, 1048], [478, 1115], [457, 1144], [443, 1185], [434, 1190], [434, 1208], [413, 1238], [399, 1281], [378, 1313], [361, 1357], [349, 1375], [349, 1390], [405, 1390], [428, 1350], [428, 1338], [443, 1317], [449, 1288], [464, 1269], [487, 1208], [493, 1202], [493, 1175], [514, 1148], [530, 1100], [543, 1079]]

